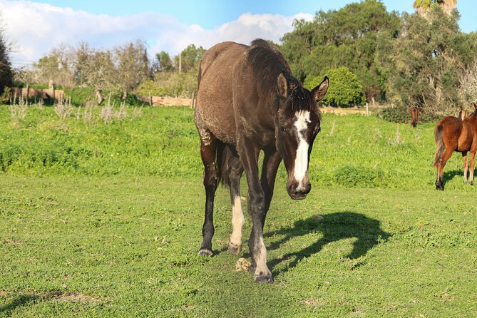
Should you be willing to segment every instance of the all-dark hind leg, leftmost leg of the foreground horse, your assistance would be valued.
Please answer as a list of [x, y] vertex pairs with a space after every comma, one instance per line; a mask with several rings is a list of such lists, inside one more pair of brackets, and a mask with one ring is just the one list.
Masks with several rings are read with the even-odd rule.
[[215, 168], [217, 139], [208, 131], [202, 131], [200, 139], [200, 156], [204, 164], [205, 220], [202, 226], [203, 241], [200, 246], [199, 255], [212, 256], [214, 196], [215, 190], [217, 189], [217, 169]]

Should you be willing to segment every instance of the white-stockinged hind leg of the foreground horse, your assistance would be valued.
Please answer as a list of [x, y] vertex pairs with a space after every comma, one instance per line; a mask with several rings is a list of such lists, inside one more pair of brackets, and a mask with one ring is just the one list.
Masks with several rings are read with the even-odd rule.
[[240, 158], [233, 156], [228, 162], [228, 178], [230, 185], [230, 201], [232, 202], [232, 235], [230, 235], [228, 250], [235, 255], [242, 252], [242, 227], [245, 218], [242, 212], [242, 203], [240, 202], [240, 178], [243, 168]]

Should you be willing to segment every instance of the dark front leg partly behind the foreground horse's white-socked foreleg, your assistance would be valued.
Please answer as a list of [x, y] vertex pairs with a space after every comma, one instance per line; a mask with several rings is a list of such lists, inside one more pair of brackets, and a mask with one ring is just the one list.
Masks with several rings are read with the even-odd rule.
[[262, 177], [260, 178], [260, 184], [262, 185], [265, 194], [265, 210], [262, 217], [262, 230], [265, 226], [265, 217], [267, 217], [267, 212], [270, 209], [270, 202], [272, 202], [275, 178], [277, 177], [277, 170], [281, 162], [282, 156], [277, 150], [270, 153], [265, 152], [262, 165]]

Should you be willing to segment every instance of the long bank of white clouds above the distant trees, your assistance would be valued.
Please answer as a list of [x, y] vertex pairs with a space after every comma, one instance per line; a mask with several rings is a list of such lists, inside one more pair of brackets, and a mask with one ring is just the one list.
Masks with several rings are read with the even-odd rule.
[[14, 62], [28, 63], [44, 56], [61, 43], [86, 41], [109, 48], [135, 39], [145, 39], [150, 53], [167, 51], [175, 55], [193, 43], [209, 48], [222, 41], [250, 43], [264, 38], [278, 42], [292, 31], [294, 19], [311, 20], [311, 14], [242, 14], [235, 21], [214, 29], [180, 23], [173, 16], [145, 12], [130, 16], [108, 16], [32, 1], [0, 0], [5, 32], [16, 41]]

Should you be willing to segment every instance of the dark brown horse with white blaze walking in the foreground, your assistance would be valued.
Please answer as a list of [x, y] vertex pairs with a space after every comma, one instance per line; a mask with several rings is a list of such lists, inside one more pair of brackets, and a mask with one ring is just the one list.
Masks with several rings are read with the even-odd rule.
[[[212, 256], [213, 205], [218, 181], [230, 186], [232, 235], [229, 250], [242, 250], [245, 222], [240, 204], [240, 177], [248, 183], [247, 209], [252, 217], [248, 245], [255, 282], [272, 282], [262, 231], [270, 207], [275, 176], [284, 160], [287, 192], [303, 199], [311, 189], [309, 155], [320, 130], [320, 101], [328, 78], [312, 91], [292, 76], [282, 53], [267, 41], [252, 46], [233, 42], [210, 48], [200, 61], [195, 125], [204, 164], [205, 221], [199, 254]], [[264, 152], [262, 175], [258, 155]]]

